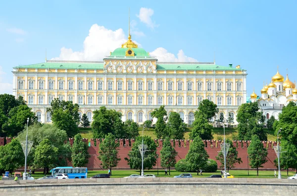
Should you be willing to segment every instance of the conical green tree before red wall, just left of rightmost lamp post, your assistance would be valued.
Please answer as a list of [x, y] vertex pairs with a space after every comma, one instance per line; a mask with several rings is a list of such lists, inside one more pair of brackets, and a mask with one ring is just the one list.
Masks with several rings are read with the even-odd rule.
[[251, 143], [247, 148], [247, 154], [250, 167], [257, 168], [257, 176], [259, 176], [259, 167], [263, 167], [262, 164], [267, 162], [267, 149], [263, 147], [257, 135], [252, 136]]

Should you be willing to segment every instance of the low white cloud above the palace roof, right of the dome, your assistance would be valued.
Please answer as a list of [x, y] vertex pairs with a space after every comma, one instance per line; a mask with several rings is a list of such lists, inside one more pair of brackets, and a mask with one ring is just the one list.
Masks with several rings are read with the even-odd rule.
[[152, 52], [150, 56], [156, 56], [159, 62], [198, 62], [198, 60], [185, 55], [183, 50], [179, 50], [177, 56], [168, 52], [165, 48], [159, 47]]

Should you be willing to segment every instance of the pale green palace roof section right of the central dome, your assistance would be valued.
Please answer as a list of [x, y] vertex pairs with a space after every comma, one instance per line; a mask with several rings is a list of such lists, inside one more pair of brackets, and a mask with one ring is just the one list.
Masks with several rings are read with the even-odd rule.
[[157, 70], [242, 70], [242, 69], [236, 69], [235, 67], [230, 66], [220, 66], [220, 65], [214, 65], [214, 64], [193, 64], [193, 63], [158, 63], [157, 64]]

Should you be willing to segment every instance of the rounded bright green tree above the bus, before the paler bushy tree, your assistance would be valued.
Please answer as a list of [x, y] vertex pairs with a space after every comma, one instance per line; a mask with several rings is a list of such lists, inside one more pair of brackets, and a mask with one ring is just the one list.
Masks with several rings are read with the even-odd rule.
[[44, 139], [35, 150], [34, 163], [39, 168], [44, 168], [46, 175], [47, 168], [57, 162], [58, 148], [54, 147], [49, 139]]

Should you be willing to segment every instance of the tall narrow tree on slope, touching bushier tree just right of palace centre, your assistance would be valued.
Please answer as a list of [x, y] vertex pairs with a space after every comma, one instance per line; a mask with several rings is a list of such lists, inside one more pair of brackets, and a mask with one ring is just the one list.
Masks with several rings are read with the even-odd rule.
[[155, 124], [155, 135], [158, 139], [164, 138], [168, 136], [168, 132], [166, 129], [166, 120], [167, 120], [167, 112], [165, 110], [165, 106], [160, 106], [159, 109], [154, 109], [151, 113], [152, 118], [157, 118], [157, 122]]

